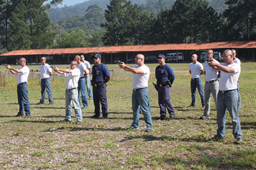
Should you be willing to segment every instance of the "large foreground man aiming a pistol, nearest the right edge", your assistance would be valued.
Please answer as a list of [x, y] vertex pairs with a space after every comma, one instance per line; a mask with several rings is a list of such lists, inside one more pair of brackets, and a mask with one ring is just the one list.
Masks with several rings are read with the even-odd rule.
[[212, 140], [223, 140], [225, 135], [226, 110], [229, 111], [233, 125], [233, 135], [236, 143], [242, 142], [241, 125], [238, 116], [238, 90], [237, 82], [241, 67], [233, 62], [231, 50], [222, 53], [224, 63], [209, 62], [209, 66], [221, 70], [220, 86], [217, 97], [217, 135]]

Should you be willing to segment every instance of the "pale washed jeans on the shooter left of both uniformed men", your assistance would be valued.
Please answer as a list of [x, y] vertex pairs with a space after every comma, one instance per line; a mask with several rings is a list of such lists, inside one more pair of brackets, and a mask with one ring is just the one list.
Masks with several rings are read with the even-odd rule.
[[79, 105], [80, 100], [78, 99], [77, 88], [75, 88], [73, 90], [69, 90], [69, 91], [66, 90], [65, 98], [66, 98], [66, 117], [65, 117], [65, 119], [71, 121], [72, 102], [73, 102], [77, 121], [82, 121], [82, 112], [81, 112], [81, 107]]

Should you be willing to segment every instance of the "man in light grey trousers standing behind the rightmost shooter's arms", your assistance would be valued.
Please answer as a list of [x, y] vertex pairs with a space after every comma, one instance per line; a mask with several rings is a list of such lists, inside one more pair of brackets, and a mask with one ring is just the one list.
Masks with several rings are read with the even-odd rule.
[[214, 59], [214, 51], [207, 50], [206, 51], [207, 61], [204, 62], [204, 75], [205, 75], [205, 84], [204, 84], [204, 95], [205, 95], [205, 108], [204, 114], [200, 116], [200, 119], [210, 118], [210, 95], [214, 97], [214, 102], [216, 106], [217, 102], [217, 94], [219, 91], [219, 82], [218, 78], [220, 76], [220, 71], [211, 68], [208, 65], [209, 61], [214, 61], [218, 64], [219, 61]]

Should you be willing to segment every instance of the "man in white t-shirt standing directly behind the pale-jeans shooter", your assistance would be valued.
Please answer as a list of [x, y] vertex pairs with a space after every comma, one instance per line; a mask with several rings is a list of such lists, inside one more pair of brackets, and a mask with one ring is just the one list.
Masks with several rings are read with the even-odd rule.
[[[77, 61], [78, 63], [77, 68], [80, 70], [80, 78], [78, 81], [78, 99], [80, 99], [80, 94], [81, 94], [83, 109], [87, 109], [88, 108], [88, 100], [87, 100], [87, 93], [86, 93], [86, 78], [88, 77], [87, 67], [81, 61], [80, 56], [76, 55], [74, 60]], [[81, 106], [80, 102], [79, 102], [79, 106]]]

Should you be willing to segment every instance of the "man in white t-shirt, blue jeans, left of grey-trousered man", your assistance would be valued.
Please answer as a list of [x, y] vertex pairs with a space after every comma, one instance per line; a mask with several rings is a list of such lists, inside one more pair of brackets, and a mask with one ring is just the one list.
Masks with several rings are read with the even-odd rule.
[[191, 55], [192, 63], [189, 64], [188, 70], [189, 74], [191, 74], [190, 88], [191, 88], [191, 105], [188, 107], [196, 107], [196, 99], [197, 99], [197, 88], [201, 97], [202, 108], [204, 108], [204, 91], [201, 75], [204, 74], [203, 65], [197, 61], [197, 54]]

